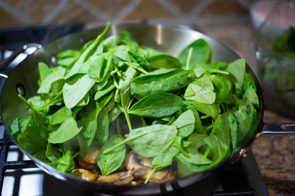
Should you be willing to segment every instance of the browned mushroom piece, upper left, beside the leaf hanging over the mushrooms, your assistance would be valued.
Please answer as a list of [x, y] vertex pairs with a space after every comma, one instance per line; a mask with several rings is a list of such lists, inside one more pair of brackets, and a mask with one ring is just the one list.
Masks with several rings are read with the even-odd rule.
[[97, 167], [98, 154], [98, 147], [90, 147], [85, 157], [78, 157], [78, 164], [85, 169], [92, 170]]

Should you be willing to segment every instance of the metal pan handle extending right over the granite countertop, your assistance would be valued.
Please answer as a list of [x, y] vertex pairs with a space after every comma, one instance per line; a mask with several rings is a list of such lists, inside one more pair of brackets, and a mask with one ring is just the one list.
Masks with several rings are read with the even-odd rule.
[[295, 123], [264, 123], [261, 134], [295, 134]]

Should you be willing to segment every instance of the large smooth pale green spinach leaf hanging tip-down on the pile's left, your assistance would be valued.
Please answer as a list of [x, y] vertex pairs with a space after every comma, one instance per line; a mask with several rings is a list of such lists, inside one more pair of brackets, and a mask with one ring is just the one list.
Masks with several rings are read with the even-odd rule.
[[75, 107], [95, 84], [87, 74], [81, 74], [63, 85], [63, 100], [69, 109]]

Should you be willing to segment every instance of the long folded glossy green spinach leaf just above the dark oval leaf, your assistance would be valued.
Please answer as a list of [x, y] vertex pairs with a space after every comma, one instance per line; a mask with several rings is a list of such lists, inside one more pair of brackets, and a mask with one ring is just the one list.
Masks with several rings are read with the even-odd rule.
[[171, 92], [183, 87], [192, 71], [183, 69], [165, 70], [136, 77], [131, 83], [131, 93], [140, 99], [155, 92]]

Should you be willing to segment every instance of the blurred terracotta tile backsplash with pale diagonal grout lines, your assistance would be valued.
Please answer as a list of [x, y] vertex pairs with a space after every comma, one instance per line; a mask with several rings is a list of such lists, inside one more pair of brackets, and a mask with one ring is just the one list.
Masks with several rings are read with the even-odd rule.
[[[1, 0], [0, 26], [112, 21], [194, 24], [248, 17], [252, 0]], [[218, 17], [214, 17], [218, 16]]]

